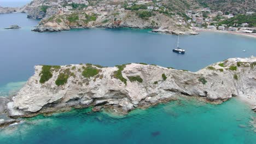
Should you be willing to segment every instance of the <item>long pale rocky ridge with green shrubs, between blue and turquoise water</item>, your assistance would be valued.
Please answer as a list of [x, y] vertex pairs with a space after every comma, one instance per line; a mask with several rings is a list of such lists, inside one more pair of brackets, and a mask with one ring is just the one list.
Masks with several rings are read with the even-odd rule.
[[213, 103], [241, 97], [256, 104], [256, 57], [230, 58], [196, 73], [156, 65], [91, 64], [35, 67], [35, 74], [8, 103], [11, 117], [95, 106], [127, 113], [182, 95]]

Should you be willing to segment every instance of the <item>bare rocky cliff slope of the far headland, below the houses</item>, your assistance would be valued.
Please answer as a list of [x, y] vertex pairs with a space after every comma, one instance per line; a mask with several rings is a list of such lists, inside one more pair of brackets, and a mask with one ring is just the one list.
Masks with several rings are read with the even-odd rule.
[[[142, 10], [144, 11], [144, 10]], [[138, 12], [131, 10], [113, 10], [113, 11], [83, 11], [69, 14], [58, 14], [44, 19], [39, 25], [32, 29], [37, 32], [59, 32], [71, 28], [153, 28], [154, 32], [169, 34], [198, 34], [191, 29], [179, 25], [164, 14], [152, 12], [154, 16], [139, 17]]]

